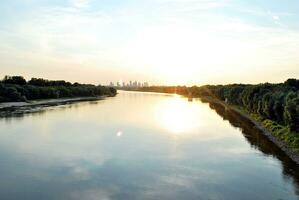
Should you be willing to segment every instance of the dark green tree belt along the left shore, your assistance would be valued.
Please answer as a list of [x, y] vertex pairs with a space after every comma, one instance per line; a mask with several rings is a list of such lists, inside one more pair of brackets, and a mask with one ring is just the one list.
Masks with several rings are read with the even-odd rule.
[[0, 81], [0, 102], [27, 101], [65, 97], [114, 96], [116, 89], [91, 84], [50, 81], [32, 78], [26, 81], [22, 76], [5, 76]]

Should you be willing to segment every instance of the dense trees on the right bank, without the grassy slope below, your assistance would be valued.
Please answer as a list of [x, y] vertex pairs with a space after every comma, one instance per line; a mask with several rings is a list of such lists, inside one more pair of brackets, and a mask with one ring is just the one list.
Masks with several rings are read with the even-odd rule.
[[194, 96], [216, 97], [299, 132], [299, 80], [288, 79], [281, 84], [204, 86], [191, 92]]

